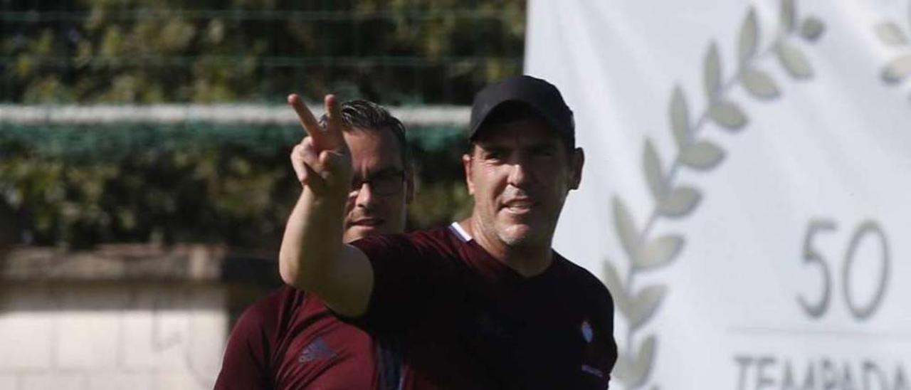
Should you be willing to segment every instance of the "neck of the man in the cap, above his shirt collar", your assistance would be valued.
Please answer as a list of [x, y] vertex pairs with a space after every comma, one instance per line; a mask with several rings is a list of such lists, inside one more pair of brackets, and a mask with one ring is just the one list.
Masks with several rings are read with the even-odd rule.
[[547, 271], [554, 261], [549, 240], [526, 245], [507, 245], [496, 234], [486, 231], [476, 218], [468, 218], [459, 222], [459, 225], [494, 259], [524, 277], [530, 278]]

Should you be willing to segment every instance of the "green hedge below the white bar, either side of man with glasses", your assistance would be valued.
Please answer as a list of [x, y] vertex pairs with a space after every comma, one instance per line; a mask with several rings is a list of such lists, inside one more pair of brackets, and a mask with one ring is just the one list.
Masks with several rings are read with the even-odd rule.
[[[458, 128], [409, 138], [418, 171], [412, 229], [466, 215]], [[0, 239], [85, 248], [100, 242], [220, 242], [274, 251], [300, 194], [288, 155], [297, 126], [6, 125], [0, 130]], [[6, 207], [9, 203], [9, 208]], [[2, 240], [0, 240], [2, 241]], [[2, 243], [2, 242], [0, 242]]]

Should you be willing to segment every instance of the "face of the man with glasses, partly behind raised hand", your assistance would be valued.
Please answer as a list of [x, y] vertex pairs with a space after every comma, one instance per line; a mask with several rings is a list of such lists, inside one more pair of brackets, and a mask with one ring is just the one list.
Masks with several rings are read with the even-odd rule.
[[351, 149], [353, 183], [363, 185], [358, 190], [353, 184], [348, 196], [343, 241], [403, 232], [405, 205], [413, 187], [393, 132], [354, 128], [344, 132], [344, 139]]

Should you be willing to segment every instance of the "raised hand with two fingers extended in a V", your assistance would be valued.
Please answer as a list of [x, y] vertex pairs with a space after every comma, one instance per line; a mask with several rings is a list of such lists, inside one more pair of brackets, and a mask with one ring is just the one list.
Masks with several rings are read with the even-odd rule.
[[301, 143], [291, 153], [292, 166], [297, 179], [310, 188], [317, 197], [346, 195], [352, 178], [351, 152], [345, 144], [342, 113], [333, 95], [326, 95], [326, 128], [322, 128], [300, 96], [288, 96], [306, 133]]

